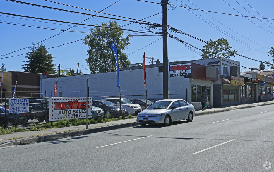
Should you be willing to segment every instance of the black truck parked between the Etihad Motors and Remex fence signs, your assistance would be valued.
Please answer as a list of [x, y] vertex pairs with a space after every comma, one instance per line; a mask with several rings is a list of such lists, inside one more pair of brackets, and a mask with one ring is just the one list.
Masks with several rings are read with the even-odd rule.
[[49, 100], [46, 98], [29, 99], [29, 113], [25, 113], [28, 119], [37, 119], [39, 122], [49, 120]]

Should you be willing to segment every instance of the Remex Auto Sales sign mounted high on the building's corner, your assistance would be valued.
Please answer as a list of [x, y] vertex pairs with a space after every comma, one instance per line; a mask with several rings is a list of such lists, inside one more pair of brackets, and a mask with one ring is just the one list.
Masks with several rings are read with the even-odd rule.
[[184, 78], [191, 78], [191, 63], [170, 65], [170, 76], [184, 76]]

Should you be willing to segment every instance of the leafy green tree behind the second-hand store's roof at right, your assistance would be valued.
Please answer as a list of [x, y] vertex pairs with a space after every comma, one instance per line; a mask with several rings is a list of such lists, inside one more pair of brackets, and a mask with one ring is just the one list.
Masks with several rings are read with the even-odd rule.
[[[227, 40], [224, 37], [218, 38], [216, 41], [212, 41], [210, 39], [210, 41], [207, 41], [207, 43], [208, 44], [203, 46], [204, 49], [203, 49], [203, 54], [201, 55], [202, 56], [201, 59], [221, 58], [221, 57], [229, 59], [231, 56], [235, 57], [235, 53], [237, 53], [237, 50], [235, 50], [235, 49], [231, 52], [228, 52], [228, 51], [230, 51], [230, 49], [232, 47], [229, 46]], [[210, 44], [212, 44], [212, 45], [210, 45]], [[217, 47], [215, 47], [213, 45], [215, 45]], [[220, 48], [222, 48], [222, 49], [220, 49]], [[228, 51], [225, 51], [225, 50], [228, 50]]]

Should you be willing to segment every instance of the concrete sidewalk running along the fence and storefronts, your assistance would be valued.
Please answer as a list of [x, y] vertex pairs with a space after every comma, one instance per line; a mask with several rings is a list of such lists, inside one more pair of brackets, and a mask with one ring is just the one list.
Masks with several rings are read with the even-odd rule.
[[[205, 109], [204, 111], [197, 110], [195, 111], [195, 114], [196, 116], [206, 115], [211, 113], [219, 113], [219, 112], [224, 112], [224, 111], [229, 111], [234, 109], [244, 109], [244, 108], [264, 106], [269, 104], [274, 104], [274, 100], [267, 101], [267, 102], [256, 102], [251, 104], [241, 104], [236, 106], [208, 108], [208, 109]], [[114, 130], [118, 128], [132, 127], [137, 125], [138, 124], [136, 122], [136, 118], [130, 118], [130, 119], [119, 120], [119, 121], [111, 121], [107, 123], [90, 124], [88, 125], [88, 129], [86, 129], [86, 125], [79, 125], [79, 126], [71, 126], [71, 127], [64, 127], [64, 128], [51, 128], [51, 129], [42, 130], [42, 131], [26, 131], [26, 132], [5, 134], [5, 135], [0, 135], [0, 147], [29, 144], [34, 142], [46, 141], [46, 140], [54, 140], [54, 139], [60, 139], [64, 137], [84, 135], [84, 134], [102, 132], [107, 130]]]

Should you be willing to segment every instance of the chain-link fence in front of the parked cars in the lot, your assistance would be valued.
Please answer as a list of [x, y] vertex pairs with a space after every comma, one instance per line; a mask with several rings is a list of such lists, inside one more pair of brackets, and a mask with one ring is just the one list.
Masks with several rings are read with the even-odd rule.
[[[23, 94], [23, 93], [21, 93]], [[33, 94], [33, 93], [24, 93]], [[17, 97], [20, 94], [17, 94]], [[38, 95], [38, 93], [36, 93]], [[6, 98], [0, 98], [0, 127], [16, 129], [30, 129], [39, 127], [41, 124], [49, 123], [49, 97], [20, 97], [29, 99], [28, 113], [9, 113], [10, 94], [4, 94]], [[76, 96], [75, 96], [76, 97]], [[90, 96], [92, 97], [92, 96]], [[169, 94], [169, 98], [184, 99], [187, 101], [187, 90], [185, 94]], [[104, 99], [105, 101], [103, 101]], [[118, 118], [119, 116], [137, 116], [139, 112], [144, 110], [150, 104], [162, 99], [162, 94], [142, 94], [142, 95], [118, 95], [112, 96], [94, 96], [92, 97], [93, 118]], [[107, 108], [109, 102], [116, 107]], [[108, 102], [108, 103], [106, 103]], [[105, 106], [104, 106], [105, 105]], [[138, 105], [135, 106], [135, 105]], [[100, 116], [99, 116], [100, 114]]]

